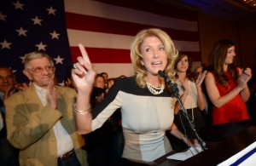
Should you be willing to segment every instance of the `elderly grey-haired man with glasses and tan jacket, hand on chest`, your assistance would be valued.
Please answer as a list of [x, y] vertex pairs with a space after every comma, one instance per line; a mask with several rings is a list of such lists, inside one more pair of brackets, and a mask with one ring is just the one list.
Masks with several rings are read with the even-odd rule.
[[8, 140], [20, 149], [20, 165], [87, 165], [73, 117], [75, 90], [54, 85], [48, 54], [26, 54], [24, 66], [32, 85], [4, 100]]

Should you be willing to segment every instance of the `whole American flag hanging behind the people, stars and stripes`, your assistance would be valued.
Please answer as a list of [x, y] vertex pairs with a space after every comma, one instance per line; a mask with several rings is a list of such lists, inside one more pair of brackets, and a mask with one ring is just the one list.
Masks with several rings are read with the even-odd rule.
[[131, 76], [133, 37], [144, 28], [159, 27], [197, 64], [201, 62], [197, 21], [195, 12], [153, 0], [1, 0], [1, 63], [11, 66], [23, 82], [22, 58], [44, 50], [55, 60], [62, 82], [83, 43], [96, 72]]

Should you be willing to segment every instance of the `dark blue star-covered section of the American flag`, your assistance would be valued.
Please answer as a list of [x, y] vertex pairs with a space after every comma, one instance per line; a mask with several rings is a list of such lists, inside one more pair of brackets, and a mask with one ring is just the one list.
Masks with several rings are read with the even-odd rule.
[[15, 72], [20, 83], [23, 58], [32, 51], [45, 51], [55, 61], [56, 76], [63, 79], [72, 63], [67, 40], [63, 0], [1, 0], [0, 58]]

